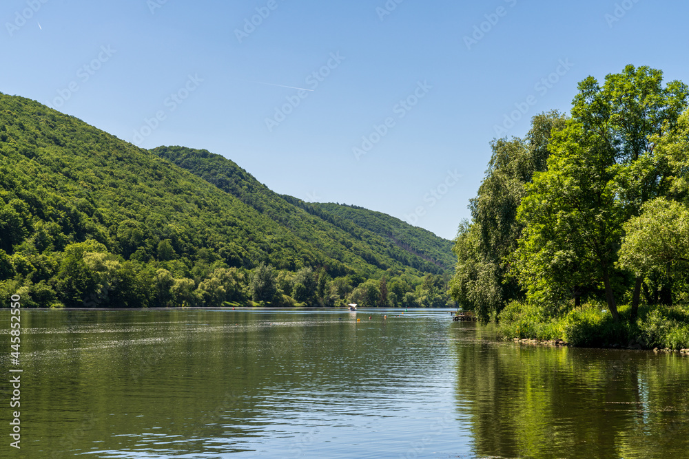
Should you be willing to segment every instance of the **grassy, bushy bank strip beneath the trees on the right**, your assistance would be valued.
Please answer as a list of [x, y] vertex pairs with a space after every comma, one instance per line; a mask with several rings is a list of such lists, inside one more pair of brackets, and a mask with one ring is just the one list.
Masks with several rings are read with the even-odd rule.
[[558, 341], [586, 348], [689, 349], [688, 306], [639, 306], [636, 319], [631, 319], [630, 306], [618, 310], [620, 320], [616, 322], [598, 303], [548, 310], [515, 301], [500, 312], [497, 330], [508, 340]]

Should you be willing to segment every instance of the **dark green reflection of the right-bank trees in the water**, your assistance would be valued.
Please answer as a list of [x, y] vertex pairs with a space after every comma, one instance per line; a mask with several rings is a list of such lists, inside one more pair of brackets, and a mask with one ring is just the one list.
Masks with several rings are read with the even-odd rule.
[[459, 340], [455, 358], [477, 456], [689, 457], [686, 357]]

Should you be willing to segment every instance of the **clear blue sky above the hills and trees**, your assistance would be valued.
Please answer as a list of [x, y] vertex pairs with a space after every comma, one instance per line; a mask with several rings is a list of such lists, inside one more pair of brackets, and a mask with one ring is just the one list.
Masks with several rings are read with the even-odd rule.
[[4, 0], [0, 92], [451, 239], [491, 139], [568, 111], [586, 76], [632, 63], [689, 83], [688, 13], [650, 0]]

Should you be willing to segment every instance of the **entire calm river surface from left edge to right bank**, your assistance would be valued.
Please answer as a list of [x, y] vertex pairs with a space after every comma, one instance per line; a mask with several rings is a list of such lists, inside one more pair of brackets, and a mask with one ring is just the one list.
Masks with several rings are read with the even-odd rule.
[[[498, 343], [438, 310], [26, 310], [22, 320], [16, 457], [689, 450], [689, 359], [679, 356]], [[0, 425], [9, 416], [0, 410]]]

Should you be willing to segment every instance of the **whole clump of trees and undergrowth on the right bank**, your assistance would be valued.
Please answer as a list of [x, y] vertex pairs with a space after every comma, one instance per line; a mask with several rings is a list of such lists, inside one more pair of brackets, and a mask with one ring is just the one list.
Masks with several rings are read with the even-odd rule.
[[491, 142], [453, 297], [506, 337], [689, 347], [688, 87], [628, 65]]

